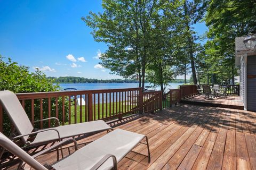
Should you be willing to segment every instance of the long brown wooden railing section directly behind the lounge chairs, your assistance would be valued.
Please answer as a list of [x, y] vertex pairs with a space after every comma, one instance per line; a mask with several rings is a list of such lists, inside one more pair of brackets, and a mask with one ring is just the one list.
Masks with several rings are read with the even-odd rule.
[[[140, 96], [141, 95], [141, 96]], [[143, 112], [142, 88], [33, 92], [17, 94], [31, 122], [48, 117], [59, 118], [62, 125], [110, 120], [123, 115]], [[79, 103], [79, 105], [78, 105]], [[0, 131], [3, 131], [3, 109], [0, 106]], [[51, 126], [50, 120], [38, 128]]]

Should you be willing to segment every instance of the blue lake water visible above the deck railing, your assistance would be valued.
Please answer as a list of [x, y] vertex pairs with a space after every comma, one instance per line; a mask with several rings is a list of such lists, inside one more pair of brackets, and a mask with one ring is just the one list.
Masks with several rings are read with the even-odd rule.
[[[176, 89], [182, 83], [170, 83], [167, 89]], [[145, 86], [150, 86], [149, 83], [145, 83]], [[137, 88], [139, 83], [60, 83], [60, 87], [75, 88], [77, 90], [101, 90], [101, 89], [125, 89], [125, 88]], [[156, 90], [160, 90], [160, 87], [156, 87]]]

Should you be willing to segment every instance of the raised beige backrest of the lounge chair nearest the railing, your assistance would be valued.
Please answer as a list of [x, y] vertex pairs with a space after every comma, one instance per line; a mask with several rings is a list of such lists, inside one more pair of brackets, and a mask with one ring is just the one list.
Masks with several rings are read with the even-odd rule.
[[[33, 126], [20, 104], [17, 96], [9, 90], [0, 91], [0, 104], [5, 109], [8, 117], [15, 127], [15, 131], [21, 134], [27, 134], [33, 131]], [[23, 142], [26, 142], [28, 136], [21, 138]]]

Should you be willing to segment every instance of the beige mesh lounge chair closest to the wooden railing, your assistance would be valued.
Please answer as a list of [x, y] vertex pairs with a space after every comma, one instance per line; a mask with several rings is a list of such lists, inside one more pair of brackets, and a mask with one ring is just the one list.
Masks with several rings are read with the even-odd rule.
[[[85, 123], [70, 124], [65, 126], [57, 126], [54, 128], [47, 128], [33, 132], [34, 127], [31, 124], [26, 112], [20, 104], [17, 96], [9, 91], [0, 91], [0, 103], [5, 109], [7, 115], [9, 116], [12, 124], [14, 125], [15, 132], [18, 136], [15, 136], [13, 140], [21, 139], [23, 144], [29, 146], [39, 146], [46, 143], [51, 143], [54, 141], [61, 141], [64, 138], [75, 137], [81, 135], [84, 138], [90, 134], [95, 134], [97, 132], [113, 130], [104, 121], [92, 121]], [[56, 117], [54, 118], [59, 122]], [[46, 118], [41, 121], [49, 120]], [[35, 135], [33, 141], [29, 141], [29, 135]]]

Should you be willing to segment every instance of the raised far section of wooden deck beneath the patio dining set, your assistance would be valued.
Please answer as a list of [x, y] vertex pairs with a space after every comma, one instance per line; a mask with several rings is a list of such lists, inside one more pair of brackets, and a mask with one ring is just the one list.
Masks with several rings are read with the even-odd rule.
[[196, 104], [202, 106], [214, 106], [222, 108], [234, 108], [234, 109], [244, 109], [243, 102], [241, 98], [237, 95], [229, 95], [225, 99], [224, 97], [218, 98], [206, 98], [205, 95], [198, 95], [189, 98], [182, 99], [184, 104]]

